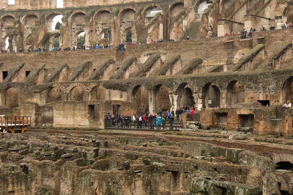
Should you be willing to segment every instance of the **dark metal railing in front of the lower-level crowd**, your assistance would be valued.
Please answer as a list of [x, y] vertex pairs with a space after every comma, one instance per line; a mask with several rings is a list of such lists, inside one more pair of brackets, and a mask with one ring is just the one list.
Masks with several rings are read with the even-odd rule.
[[129, 119], [106, 119], [105, 128], [137, 128], [137, 129], [157, 129], [157, 130], [172, 130], [172, 129], [182, 129], [182, 119], [181, 120], [167, 120], [166, 122], [157, 121], [155, 118], [152, 119], [142, 119], [139, 121], [137, 118], [135, 121], [132, 118]]

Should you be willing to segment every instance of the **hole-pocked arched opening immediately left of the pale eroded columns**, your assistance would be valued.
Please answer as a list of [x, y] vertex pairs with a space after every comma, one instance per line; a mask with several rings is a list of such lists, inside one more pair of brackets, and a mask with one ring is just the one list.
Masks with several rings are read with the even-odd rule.
[[162, 112], [171, 109], [171, 101], [169, 98], [169, 90], [165, 85], [157, 85], [154, 91], [155, 95], [155, 110], [160, 108]]

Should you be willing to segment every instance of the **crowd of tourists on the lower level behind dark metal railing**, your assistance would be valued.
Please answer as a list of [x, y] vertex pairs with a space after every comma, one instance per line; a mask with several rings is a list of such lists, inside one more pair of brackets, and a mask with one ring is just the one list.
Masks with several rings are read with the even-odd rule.
[[137, 128], [140, 129], [154, 129], [154, 127], [157, 127], [157, 129], [166, 129], [166, 124], [168, 124], [169, 128], [173, 129], [174, 121], [180, 121], [181, 114], [183, 113], [190, 113], [191, 121], [193, 121], [195, 110], [197, 110], [197, 108], [190, 108], [189, 110], [186, 106], [183, 108], [177, 108], [176, 111], [171, 109], [170, 112], [167, 111], [166, 114], [164, 114], [159, 108], [154, 115], [150, 112], [146, 112], [142, 115], [134, 114], [132, 117], [129, 114], [115, 117], [113, 114], [111, 115], [108, 113], [106, 120], [108, 127], [117, 126], [118, 128], [130, 128], [130, 126], [137, 126]]

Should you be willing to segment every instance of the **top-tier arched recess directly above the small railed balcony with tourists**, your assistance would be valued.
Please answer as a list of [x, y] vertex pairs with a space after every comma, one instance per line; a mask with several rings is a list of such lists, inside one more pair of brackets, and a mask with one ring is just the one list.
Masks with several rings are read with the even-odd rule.
[[127, 32], [132, 27], [132, 21], [134, 21], [135, 11], [133, 9], [125, 9], [120, 13], [120, 35], [121, 42], [125, 41]]

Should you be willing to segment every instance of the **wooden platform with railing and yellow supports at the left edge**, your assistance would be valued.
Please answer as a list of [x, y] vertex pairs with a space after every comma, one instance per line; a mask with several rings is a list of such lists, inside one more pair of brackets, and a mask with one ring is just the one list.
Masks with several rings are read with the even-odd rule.
[[10, 130], [10, 133], [15, 133], [15, 128], [21, 128], [21, 133], [31, 126], [31, 116], [0, 116], [1, 132]]

